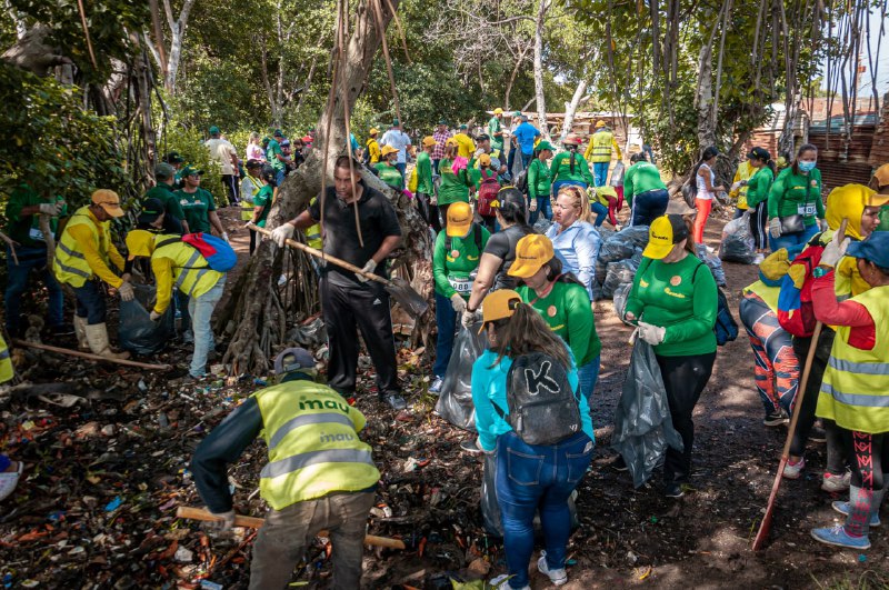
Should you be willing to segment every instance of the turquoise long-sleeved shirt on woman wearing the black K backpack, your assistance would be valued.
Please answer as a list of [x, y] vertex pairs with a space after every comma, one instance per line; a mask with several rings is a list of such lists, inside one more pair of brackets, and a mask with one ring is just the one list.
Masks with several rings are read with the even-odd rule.
[[[476, 406], [476, 430], [479, 432], [481, 448], [489, 452], [497, 448], [497, 437], [512, 430], [509, 422], [500, 418], [500, 414], [493, 409], [493, 403], [497, 403], [505, 414], [509, 413], [507, 373], [509, 368], [512, 367], [512, 359], [503, 357], [499, 363], [495, 364], [496, 362], [497, 352], [486, 350], [476, 359], [476, 363], [472, 366], [472, 403]], [[571, 389], [577, 391], [577, 367], [575, 367], [573, 358], [571, 359], [571, 370], [568, 372], [568, 382], [571, 384]], [[592, 431], [590, 407], [583, 396], [578, 393], [577, 397], [580, 398], [578, 407], [580, 408], [582, 430], [590, 440], [595, 441], [596, 434]]]

